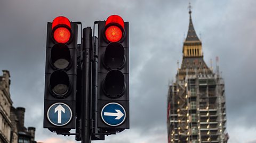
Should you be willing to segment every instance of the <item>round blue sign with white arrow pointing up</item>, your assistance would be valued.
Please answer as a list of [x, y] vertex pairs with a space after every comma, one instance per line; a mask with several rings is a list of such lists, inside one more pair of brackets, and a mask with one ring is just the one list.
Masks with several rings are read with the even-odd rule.
[[54, 103], [47, 111], [47, 118], [53, 125], [63, 126], [70, 122], [72, 111], [65, 103]]

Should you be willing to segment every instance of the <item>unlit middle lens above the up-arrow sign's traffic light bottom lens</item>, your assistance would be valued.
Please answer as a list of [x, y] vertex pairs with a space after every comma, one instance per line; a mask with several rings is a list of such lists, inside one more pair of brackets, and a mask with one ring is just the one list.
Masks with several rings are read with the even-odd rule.
[[66, 69], [71, 62], [70, 51], [65, 44], [55, 44], [51, 51], [52, 64], [57, 69]]

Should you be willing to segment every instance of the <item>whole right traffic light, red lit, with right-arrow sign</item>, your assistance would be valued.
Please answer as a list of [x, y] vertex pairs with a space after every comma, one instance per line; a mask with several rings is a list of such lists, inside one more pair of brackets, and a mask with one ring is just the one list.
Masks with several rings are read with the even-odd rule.
[[105, 134], [129, 129], [129, 22], [118, 15], [98, 21], [97, 73], [97, 128]]

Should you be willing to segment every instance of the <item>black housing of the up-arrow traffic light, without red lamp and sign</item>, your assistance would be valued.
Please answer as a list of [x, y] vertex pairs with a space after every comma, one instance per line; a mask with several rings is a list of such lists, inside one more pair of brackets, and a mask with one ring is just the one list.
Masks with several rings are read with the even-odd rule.
[[[60, 17], [63, 18], [63, 16]], [[52, 24], [51, 22], [47, 23], [44, 128], [61, 133], [75, 129], [78, 26], [77, 23], [70, 22], [70, 27], [60, 23], [53, 28]], [[62, 27], [70, 32], [70, 38], [65, 43], [57, 42], [53, 36], [54, 30]], [[72, 114], [71, 120], [67, 124], [57, 126], [50, 122], [49, 108], [55, 103], [69, 106]]]

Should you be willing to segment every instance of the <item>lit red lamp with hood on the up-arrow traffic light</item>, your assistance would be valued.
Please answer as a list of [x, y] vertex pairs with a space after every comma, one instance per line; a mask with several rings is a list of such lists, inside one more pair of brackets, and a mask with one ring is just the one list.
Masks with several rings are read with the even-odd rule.
[[71, 24], [68, 18], [58, 16], [52, 21], [53, 38], [58, 43], [67, 43], [71, 37]]

